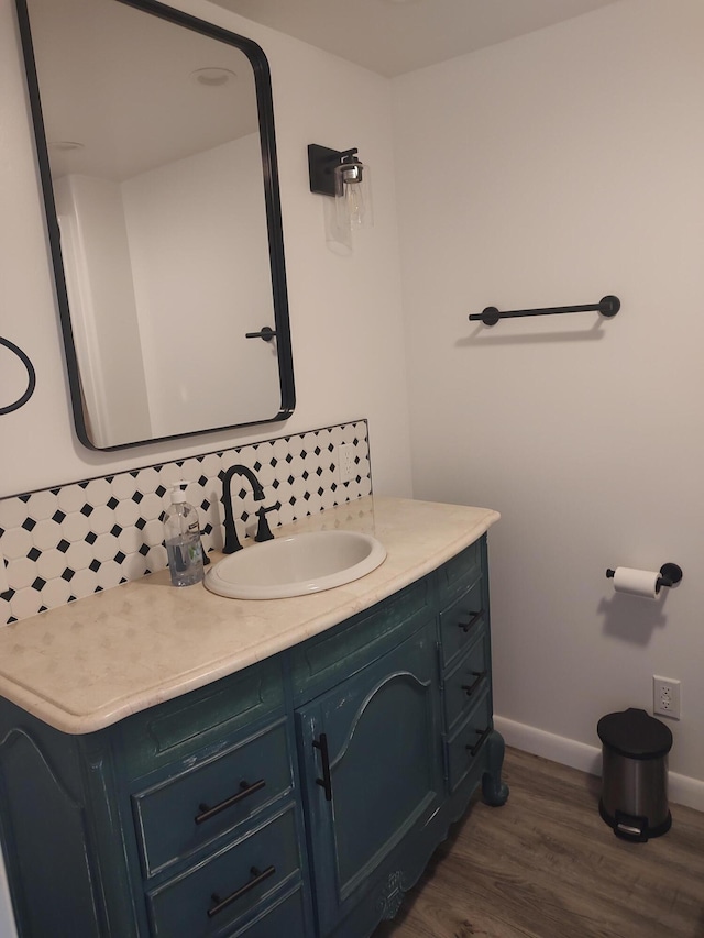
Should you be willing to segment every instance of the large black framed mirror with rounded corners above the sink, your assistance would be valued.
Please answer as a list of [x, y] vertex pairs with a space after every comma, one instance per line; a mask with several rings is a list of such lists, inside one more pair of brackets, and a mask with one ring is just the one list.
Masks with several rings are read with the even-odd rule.
[[119, 450], [295, 406], [261, 47], [156, 0], [15, 0], [76, 431]]

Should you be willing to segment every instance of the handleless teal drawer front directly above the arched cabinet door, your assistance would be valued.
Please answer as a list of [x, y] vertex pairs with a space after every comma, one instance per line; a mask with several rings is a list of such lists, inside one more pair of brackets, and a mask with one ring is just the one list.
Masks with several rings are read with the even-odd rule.
[[435, 617], [432, 581], [425, 577], [341, 626], [292, 650], [294, 693], [310, 697], [339, 684], [400, 644]]

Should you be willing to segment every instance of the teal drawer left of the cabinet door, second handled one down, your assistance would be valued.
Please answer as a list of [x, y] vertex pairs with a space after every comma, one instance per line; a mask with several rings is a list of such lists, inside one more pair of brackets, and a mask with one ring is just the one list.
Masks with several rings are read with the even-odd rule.
[[297, 882], [299, 872], [290, 806], [206, 862], [147, 892], [152, 934], [160, 938], [238, 934], [234, 923], [256, 906], [268, 907], [278, 892]]

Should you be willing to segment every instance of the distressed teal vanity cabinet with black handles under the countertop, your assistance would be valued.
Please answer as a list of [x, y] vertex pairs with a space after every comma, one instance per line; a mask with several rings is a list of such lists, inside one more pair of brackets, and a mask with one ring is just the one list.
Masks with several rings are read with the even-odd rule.
[[[229, 600], [223, 600], [229, 602]], [[486, 539], [307, 641], [85, 736], [0, 699], [21, 938], [364, 938], [482, 786]]]

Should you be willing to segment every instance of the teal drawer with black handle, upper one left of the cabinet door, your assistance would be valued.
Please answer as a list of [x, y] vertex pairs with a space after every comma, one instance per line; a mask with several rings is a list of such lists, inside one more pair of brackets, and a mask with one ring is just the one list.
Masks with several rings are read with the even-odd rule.
[[[292, 790], [284, 720], [132, 796], [142, 865], [153, 876]], [[198, 820], [196, 819], [198, 818]]]

